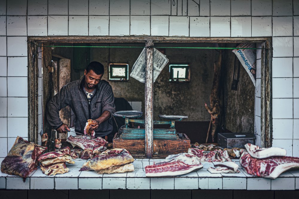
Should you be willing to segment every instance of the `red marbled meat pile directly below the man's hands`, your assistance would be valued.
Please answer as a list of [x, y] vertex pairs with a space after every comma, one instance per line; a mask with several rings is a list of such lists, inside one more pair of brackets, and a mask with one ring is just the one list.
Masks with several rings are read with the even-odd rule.
[[108, 142], [101, 137], [91, 139], [91, 137], [87, 135], [70, 135], [66, 141], [71, 143], [73, 147], [77, 146], [80, 149], [83, 149], [80, 155], [79, 150], [76, 150], [72, 152], [71, 156], [75, 158], [81, 158], [84, 160], [93, 158], [95, 155], [100, 154], [101, 151], [107, 149], [108, 144]]

